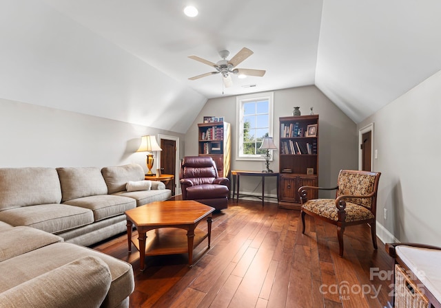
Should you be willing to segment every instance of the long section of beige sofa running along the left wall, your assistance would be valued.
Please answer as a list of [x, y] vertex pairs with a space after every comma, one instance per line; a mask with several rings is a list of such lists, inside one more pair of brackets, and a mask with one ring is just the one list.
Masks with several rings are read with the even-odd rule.
[[125, 210], [172, 196], [160, 181], [152, 181], [150, 190], [126, 190], [127, 183], [143, 179], [138, 164], [0, 168], [0, 221], [92, 245], [126, 230]]

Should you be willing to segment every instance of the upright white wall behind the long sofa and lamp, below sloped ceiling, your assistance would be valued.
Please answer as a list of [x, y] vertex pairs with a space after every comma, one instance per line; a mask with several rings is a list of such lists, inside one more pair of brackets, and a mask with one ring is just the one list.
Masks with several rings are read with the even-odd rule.
[[147, 171], [145, 153], [135, 152], [142, 135], [157, 137], [158, 133], [181, 140], [184, 137], [147, 126], [0, 99], [0, 168], [136, 163]]

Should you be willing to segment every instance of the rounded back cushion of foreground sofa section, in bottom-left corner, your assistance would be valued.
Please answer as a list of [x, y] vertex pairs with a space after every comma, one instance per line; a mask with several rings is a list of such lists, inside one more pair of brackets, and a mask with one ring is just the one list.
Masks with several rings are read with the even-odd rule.
[[83, 256], [0, 293], [0, 307], [99, 307], [111, 282], [104, 261]]

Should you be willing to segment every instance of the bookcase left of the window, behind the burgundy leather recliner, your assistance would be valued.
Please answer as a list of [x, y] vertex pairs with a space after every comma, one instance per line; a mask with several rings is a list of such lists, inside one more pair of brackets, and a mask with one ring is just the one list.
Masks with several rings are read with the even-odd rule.
[[198, 155], [212, 157], [219, 177], [229, 177], [231, 125], [228, 122], [199, 123]]

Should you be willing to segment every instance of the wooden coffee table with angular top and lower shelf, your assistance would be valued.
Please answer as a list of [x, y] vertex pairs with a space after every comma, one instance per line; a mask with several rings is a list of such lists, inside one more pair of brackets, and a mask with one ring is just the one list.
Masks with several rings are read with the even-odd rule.
[[[211, 206], [192, 200], [155, 201], [126, 210], [129, 252], [134, 243], [139, 250], [141, 271], [144, 270], [145, 256], [161, 254], [188, 253], [188, 265], [192, 267], [193, 249], [207, 237], [208, 248], [210, 247], [214, 210]], [[205, 218], [207, 233], [196, 228]], [[132, 239], [133, 225], [138, 230], [137, 239]]]

